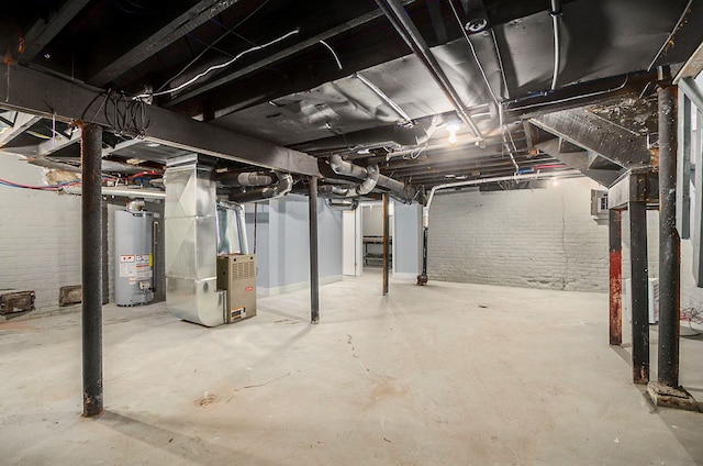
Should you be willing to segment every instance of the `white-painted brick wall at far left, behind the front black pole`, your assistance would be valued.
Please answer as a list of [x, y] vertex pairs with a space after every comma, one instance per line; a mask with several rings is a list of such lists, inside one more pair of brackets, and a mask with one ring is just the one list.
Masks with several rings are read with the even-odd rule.
[[[0, 178], [42, 185], [43, 169], [0, 154]], [[68, 311], [58, 290], [80, 285], [80, 197], [0, 186], [0, 289], [34, 290], [29, 315]]]

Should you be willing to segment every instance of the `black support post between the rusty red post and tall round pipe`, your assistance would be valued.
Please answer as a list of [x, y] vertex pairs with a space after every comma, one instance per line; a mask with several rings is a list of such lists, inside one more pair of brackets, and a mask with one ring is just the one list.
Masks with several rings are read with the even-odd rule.
[[628, 202], [632, 268], [633, 381], [649, 381], [649, 277], [647, 274], [647, 203]]

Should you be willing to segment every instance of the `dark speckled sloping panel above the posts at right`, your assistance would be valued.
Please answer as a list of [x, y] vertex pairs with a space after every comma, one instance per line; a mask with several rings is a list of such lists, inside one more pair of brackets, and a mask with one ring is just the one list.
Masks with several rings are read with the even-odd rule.
[[529, 122], [625, 168], [651, 163], [646, 136], [628, 131], [585, 109], [546, 113], [532, 118]]

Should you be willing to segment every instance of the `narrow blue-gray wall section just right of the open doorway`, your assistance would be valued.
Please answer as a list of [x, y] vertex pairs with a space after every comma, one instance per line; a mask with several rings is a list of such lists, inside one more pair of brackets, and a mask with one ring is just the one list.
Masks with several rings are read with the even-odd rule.
[[422, 270], [422, 207], [395, 202], [393, 276], [416, 278]]

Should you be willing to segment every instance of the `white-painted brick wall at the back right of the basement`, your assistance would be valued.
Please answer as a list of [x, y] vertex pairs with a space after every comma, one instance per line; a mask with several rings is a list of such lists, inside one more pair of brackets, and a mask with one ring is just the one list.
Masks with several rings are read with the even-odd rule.
[[542, 189], [437, 195], [429, 279], [606, 291], [607, 223], [591, 217], [592, 187], [578, 178]]

